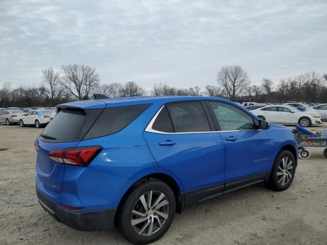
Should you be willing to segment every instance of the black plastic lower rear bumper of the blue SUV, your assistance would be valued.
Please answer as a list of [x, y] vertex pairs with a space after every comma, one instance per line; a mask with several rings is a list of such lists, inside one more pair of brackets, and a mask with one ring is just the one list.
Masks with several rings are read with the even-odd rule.
[[113, 227], [116, 209], [105, 209], [89, 212], [72, 212], [61, 208], [36, 188], [40, 205], [58, 222], [81, 231], [107, 230]]

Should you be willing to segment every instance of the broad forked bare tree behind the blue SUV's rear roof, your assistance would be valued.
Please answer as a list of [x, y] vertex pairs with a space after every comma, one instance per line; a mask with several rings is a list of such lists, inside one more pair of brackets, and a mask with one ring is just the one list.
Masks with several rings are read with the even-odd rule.
[[99, 75], [95, 67], [74, 64], [64, 65], [61, 70], [61, 85], [80, 101], [89, 99], [89, 94], [99, 85]]

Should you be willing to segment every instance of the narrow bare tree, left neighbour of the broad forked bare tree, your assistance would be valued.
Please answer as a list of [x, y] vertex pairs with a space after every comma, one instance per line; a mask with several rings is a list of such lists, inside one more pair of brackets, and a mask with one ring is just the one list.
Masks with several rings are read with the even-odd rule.
[[44, 68], [42, 70], [42, 80], [46, 93], [51, 97], [51, 106], [55, 106], [55, 99], [60, 84], [60, 72], [53, 67]]

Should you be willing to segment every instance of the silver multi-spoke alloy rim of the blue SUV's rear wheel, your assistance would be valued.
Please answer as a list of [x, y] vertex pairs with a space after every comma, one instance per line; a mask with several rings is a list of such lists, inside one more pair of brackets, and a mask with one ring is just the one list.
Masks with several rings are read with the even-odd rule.
[[169, 215], [169, 202], [164, 193], [151, 190], [135, 203], [131, 224], [133, 230], [142, 236], [151, 236], [165, 225]]

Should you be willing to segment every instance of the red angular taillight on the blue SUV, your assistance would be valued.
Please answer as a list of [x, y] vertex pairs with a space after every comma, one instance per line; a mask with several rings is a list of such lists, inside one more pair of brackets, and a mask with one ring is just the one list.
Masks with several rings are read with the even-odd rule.
[[103, 148], [99, 145], [53, 150], [49, 158], [58, 163], [87, 166]]

